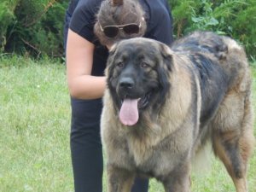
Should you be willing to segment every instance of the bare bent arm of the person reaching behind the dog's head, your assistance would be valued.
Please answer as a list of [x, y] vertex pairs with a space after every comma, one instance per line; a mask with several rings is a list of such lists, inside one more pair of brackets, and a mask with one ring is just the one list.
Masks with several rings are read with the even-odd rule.
[[106, 78], [91, 76], [94, 49], [94, 44], [68, 30], [67, 84], [74, 98], [96, 99], [103, 96]]

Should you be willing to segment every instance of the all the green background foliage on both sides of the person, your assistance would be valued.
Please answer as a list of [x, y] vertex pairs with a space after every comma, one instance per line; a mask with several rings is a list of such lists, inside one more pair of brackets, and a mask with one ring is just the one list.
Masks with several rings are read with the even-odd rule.
[[[0, 52], [63, 55], [69, 0], [1, 0]], [[255, 0], [168, 0], [176, 38], [207, 30], [235, 38], [256, 57]]]

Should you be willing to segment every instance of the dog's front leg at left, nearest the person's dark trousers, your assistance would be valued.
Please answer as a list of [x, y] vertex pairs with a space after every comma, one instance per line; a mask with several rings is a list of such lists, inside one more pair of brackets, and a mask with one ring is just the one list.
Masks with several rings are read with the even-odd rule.
[[135, 173], [108, 165], [108, 192], [130, 192]]

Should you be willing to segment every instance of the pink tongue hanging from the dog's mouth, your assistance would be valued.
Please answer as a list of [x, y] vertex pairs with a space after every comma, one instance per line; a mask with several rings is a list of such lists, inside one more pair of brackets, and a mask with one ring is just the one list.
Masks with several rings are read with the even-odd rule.
[[125, 99], [119, 112], [119, 119], [124, 125], [135, 125], [138, 120], [138, 99]]

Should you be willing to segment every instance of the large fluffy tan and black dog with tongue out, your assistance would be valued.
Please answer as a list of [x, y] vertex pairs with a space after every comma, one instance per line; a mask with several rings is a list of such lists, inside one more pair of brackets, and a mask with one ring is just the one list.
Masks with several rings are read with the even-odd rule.
[[251, 77], [234, 40], [194, 32], [171, 49], [146, 38], [124, 40], [110, 50], [106, 75], [108, 191], [130, 191], [137, 175], [155, 177], [169, 192], [190, 191], [191, 158], [207, 140], [236, 191], [247, 191]]

